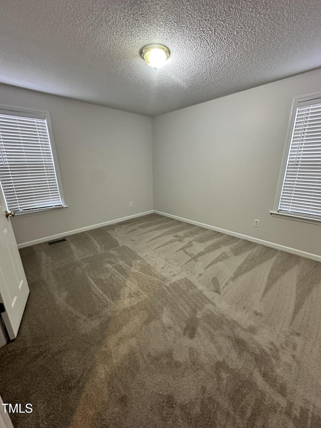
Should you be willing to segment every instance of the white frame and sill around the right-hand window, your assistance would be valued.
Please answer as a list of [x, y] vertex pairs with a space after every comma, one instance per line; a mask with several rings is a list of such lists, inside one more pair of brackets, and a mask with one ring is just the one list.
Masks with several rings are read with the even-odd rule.
[[[285, 173], [286, 173], [287, 161], [288, 161], [288, 156], [289, 156], [290, 144], [291, 144], [291, 139], [292, 139], [293, 126], [294, 126], [295, 115], [296, 115], [295, 114], [296, 108], [299, 106], [309, 105], [309, 104], [311, 104], [311, 101], [314, 101], [317, 99], [319, 99], [321, 102], [321, 92], [313, 92], [311, 94], [304, 95], [304, 96], [295, 96], [292, 100], [292, 106], [291, 106], [291, 111], [290, 111], [290, 119], [289, 119], [288, 126], [287, 126], [285, 146], [284, 146], [284, 150], [283, 150], [281, 168], [280, 168], [280, 173], [279, 173], [279, 178], [278, 178], [278, 183], [277, 183], [277, 188], [276, 188], [276, 195], [275, 195], [275, 199], [274, 199], [273, 209], [270, 211], [270, 214], [273, 217], [279, 217], [279, 218], [284, 218], [284, 219], [288, 219], [288, 220], [295, 220], [295, 221], [302, 221], [304, 223], [313, 223], [313, 224], [320, 224], [321, 223], [321, 218], [312, 218], [312, 217], [305, 216], [304, 214], [300, 215], [300, 214], [284, 213], [284, 212], [278, 211], [278, 207], [279, 207], [279, 203], [280, 203], [280, 199], [281, 199], [283, 182], [285, 179]], [[315, 103], [315, 104], [317, 104], [317, 103]]]

